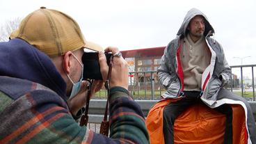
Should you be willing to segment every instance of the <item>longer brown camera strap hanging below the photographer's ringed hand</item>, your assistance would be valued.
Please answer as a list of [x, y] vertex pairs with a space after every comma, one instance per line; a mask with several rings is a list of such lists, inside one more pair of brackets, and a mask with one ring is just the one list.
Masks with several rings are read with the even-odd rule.
[[108, 76], [106, 77], [106, 81], [105, 81], [105, 88], [107, 90], [107, 95], [108, 97], [106, 98], [106, 107], [105, 107], [105, 113], [104, 113], [104, 118], [102, 120], [102, 123], [100, 125], [100, 129], [99, 129], [99, 134], [103, 134], [105, 136], [109, 136], [109, 120], [108, 120], [108, 111], [109, 111], [109, 93], [110, 93], [110, 89], [109, 89], [109, 81], [111, 79], [111, 72], [112, 72], [112, 60], [113, 60], [113, 56], [111, 56], [110, 58], [110, 63], [109, 63], [109, 72], [108, 72]]

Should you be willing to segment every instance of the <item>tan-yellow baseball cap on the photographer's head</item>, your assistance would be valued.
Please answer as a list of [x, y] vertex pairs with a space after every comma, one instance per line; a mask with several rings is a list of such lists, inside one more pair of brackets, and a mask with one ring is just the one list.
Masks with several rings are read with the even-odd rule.
[[102, 51], [102, 47], [87, 42], [77, 22], [58, 10], [41, 7], [27, 15], [10, 38], [21, 38], [50, 57], [86, 47]]

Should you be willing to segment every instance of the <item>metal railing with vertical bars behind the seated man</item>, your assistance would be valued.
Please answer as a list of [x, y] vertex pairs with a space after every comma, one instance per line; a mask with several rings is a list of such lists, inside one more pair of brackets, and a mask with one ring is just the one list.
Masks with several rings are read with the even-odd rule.
[[[248, 101], [255, 101], [255, 83], [254, 83], [254, 70], [256, 65], [235, 65], [231, 66], [232, 71], [235, 69], [240, 69], [241, 79], [231, 79], [230, 83], [225, 86], [228, 90], [245, 97], [245, 84], [243, 82], [243, 69], [251, 67], [252, 77], [250, 77], [252, 84], [250, 90], [252, 90], [251, 96], [246, 96]], [[246, 74], [248, 75], [248, 74]], [[237, 83], [234, 85], [234, 83]], [[237, 89], [238, 88], [238, 89]], [[144, 71], [144, 72], [129, 72], [129, 92], [134, 97], [134, 99], [144, 99], [144, 100], [158, 100], [162, 93], [166, 90], [159, 83], [157, 77], [157, 71]], [[247, 93], [248, 94], [248, 93]], [[105, 99], [106, 90], [101, 90], [96, 99]]]

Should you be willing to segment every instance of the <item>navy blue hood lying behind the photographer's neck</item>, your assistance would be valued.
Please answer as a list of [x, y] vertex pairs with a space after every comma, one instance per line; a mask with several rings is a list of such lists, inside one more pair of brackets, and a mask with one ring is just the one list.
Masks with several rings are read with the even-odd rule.
[[24, 40], [0, 42], [0, 61], [0, 76], [40, 83], [67, 100], [66, 83], [49, 56]]

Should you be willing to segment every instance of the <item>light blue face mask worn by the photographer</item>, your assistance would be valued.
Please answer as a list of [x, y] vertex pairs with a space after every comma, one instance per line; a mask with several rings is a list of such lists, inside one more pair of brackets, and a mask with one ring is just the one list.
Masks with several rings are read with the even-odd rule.
[[[74, 54], [72, 54], [74, 56]], [[77, 59], [78, 61], [78, 58], [77, 56], [74, 56], [74, 58]], [[79, 79], [79, 81], [77, 83], [74, 83], [74, 81], [72, 81], [72, 79], [70, 78], [70, 76], [67, 74], [67, 77], [70, 79], [70, 81], [72, 82], [73, 86], [72, 86], [72, 91], [71, 91], [71, 94], [70, 94], [70, 98], [71, 97], [74, 97], [74, 95], [77, 95], [77, 93], [79, 93], [79, 91], [81, 90], [81, 84], [82, 84], [82, 81], [83, 81], [83, 65], [80, 63], [80, 61], [78, 61], [79, 64], [81, 65], [82, 67], [82, 72], [81, 72], [81, 77]], [[70, 99], [69, 98], [69, 99]]]

